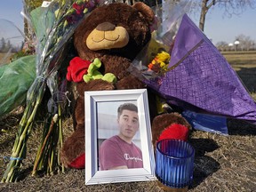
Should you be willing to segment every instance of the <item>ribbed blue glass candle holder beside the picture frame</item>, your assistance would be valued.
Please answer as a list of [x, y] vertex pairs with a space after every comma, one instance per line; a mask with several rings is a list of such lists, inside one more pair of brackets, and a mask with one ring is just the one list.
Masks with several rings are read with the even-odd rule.
[[195, 149], [183, 140], [156, 143], [156, 178], [170, 188], [188, 188], [193, 181]]

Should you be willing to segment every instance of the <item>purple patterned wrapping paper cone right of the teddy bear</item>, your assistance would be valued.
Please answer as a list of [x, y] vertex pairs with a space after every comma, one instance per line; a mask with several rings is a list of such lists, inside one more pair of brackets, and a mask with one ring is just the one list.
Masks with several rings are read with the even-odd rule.
[[166, 100], [220, 116], [256, 123], [256, 104], [244, 85], [204, 33], [185, 14], [162, 84], [153, 86]]

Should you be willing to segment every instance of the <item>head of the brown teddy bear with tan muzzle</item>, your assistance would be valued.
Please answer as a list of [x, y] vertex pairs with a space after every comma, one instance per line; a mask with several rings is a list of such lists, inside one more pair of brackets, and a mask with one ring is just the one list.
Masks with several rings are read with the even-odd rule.
[[154, 12], [145, 7], [116, 3], [93, 10], [76, 29], [78, 55], [84, 60], [105, 54], [133, 60], [151, 36], [150, 21], [154, 19]]

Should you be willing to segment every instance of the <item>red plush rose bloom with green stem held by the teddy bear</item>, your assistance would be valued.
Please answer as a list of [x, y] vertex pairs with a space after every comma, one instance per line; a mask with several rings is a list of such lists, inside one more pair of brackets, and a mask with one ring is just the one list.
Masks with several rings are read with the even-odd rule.
[[70, 60], [66, 76], [67, 80], [76, 83], [84, 81], [83, 76], [87, 74], [87, 69], [91, 63], [90, 60], [82, 60], [79, 57]]

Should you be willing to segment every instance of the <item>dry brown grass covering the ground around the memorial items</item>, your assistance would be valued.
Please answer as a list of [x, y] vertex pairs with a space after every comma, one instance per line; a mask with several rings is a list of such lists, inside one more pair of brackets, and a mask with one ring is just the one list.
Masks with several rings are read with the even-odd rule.
[[[256, 52], [222, 52], [256, 100]], [[4, 158], [10, 156], [15, 132], [22, 116], [12, 113], [0, 122], [0, 177]], [[65, 134], [72, 132], [71, 118], [65, 121]], [[65, 174], [31, 177], [30, 172], [39, 144], [40, 122], [28, 140], [28, 155], [19, 183], [0, 184], [0, 191], [163, 191], [156, 181], [84, 186], [84, 170], [67, 170]], [[193, 131], [189, 142], [196, 148], [193, 185], [188, 191], [256, 191], [256, 126], [228, 119], [228, 136]]]

